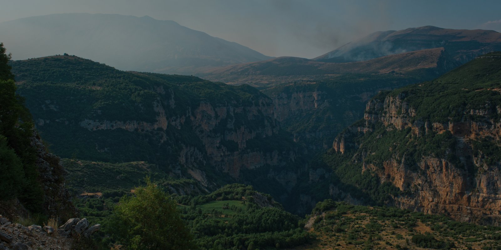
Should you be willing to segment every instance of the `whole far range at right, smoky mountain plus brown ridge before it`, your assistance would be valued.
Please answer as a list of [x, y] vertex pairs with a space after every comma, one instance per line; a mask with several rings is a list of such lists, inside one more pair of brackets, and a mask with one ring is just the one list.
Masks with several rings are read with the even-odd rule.
[[374, 32], [313, 59], [284, 56], [210, 68], [197, 75], [261, 88], [346, 73], [399, 73], [430, 80], [496, 50], [501, 50], [501, 33], [494, 30], [423, 26]]

